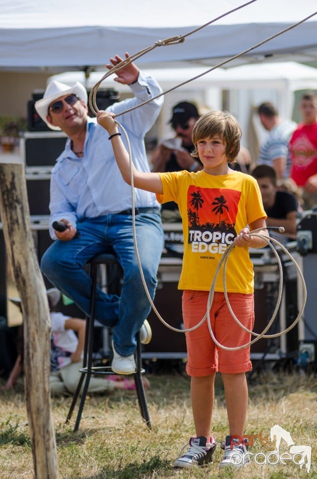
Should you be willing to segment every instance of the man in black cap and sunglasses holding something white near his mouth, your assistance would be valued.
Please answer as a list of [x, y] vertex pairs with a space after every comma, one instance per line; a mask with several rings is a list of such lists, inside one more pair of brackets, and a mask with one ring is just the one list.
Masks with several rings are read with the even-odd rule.
[[[190, 155], [194, 149], [191, 133], [199, 116], [196, 106], [188, 101], [182, 101], [173, 106], [169, 123], [176, 136], [162, 141], [154, 151], [152, 156], [153, 172], [181, 170], [195, 172], [202, 169], [199, 159]], [[173, 212], [176, 212], [176, 218], [174, 218]], [[162, 205], [163, 220], [178, 221], [177, 213], [176, 203], [168, 202]]]

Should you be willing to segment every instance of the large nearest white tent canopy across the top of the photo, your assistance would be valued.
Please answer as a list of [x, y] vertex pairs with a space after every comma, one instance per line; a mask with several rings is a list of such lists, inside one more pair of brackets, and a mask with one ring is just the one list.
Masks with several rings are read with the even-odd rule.
[[[136, 53], [186, 35], [241, 0], [0, 0], [0, 69], [65, 71], [101, 67], [115, 53]], [[147, 67], [217, 64], [316, 14], [316, 0], [254, 0], [215, 23], [138, 59]], [[246, 61], [317, 60], [317, 15], [247, 53]], [[187, 63], [188, 64], [188, 63]]]

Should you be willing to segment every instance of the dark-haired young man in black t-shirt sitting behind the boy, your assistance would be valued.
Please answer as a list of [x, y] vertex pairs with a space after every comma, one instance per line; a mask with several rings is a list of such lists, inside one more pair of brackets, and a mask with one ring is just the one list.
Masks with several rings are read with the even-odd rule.
[[[277, 174], [269, 165], [259, 165], [252, 176], [260, 187], [267, 226], [278, 226], [285, 229], [283, 237], [274, 237], [284, 241], [296, 240], [296, 215], [299, 205], [296, 197], [287, 191], [280, 191], [277, 186]], [[272, 232], [270, 232], [271, 235]]]

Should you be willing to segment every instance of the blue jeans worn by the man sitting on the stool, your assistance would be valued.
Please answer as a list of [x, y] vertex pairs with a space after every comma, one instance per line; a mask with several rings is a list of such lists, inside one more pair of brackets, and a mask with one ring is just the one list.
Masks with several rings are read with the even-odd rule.
[[[113, 327], [115, 349], [130, 356], [136, 348], [136, 333], [151, 311], [133, 240], [131, 215], [106, 215], [77, 224], [80, 238], [54, 241], [41, 259], [41, 269], [49, 281], [71, 298], [85, 313], [90, 312], [91, 278], [83, 268], [98, 253], [112, 252], [123, 268], [121, 296], [96, 292], [95, 318]], [[136, 215], [136, 233], [142, 269], [152, 298], [157, 287], [157, 271], [163, 248], [160, 215]]]

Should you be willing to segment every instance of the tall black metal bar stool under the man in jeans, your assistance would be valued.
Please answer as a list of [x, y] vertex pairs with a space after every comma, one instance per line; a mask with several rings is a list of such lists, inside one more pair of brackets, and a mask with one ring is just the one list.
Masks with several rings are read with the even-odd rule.
[[[70, 406], [66, 423], [70, 420], [71, 415], [73, 413], [74, 407], [77, 402], [77, 398], [81, 391], [84, 377], [86, 375], [86, 380], [84, 383], [79, 409], [77, 413], [76, 423], [74, 427], [74, 431], [78, 430], [82, 411], [85, 404], [85, 399], [88, 391], [89, 381], [91, 378], [91, 374], [93, 372], [98, 372], [102, 374], [115, 374], [111, 366], [101, 366], [101, 367], [94, 367], [93, 366], [93, 342], [94, 342], [94, 317], [95, 317], [95, 300], [96, 300], [96, 287], [97, 287], [97, 271], [99, 264], [106, 264], [109, 265], [118, 265], [118, 261], [115, 255], [103, 253], [97, 254], [94, 256], [87, 264], [90, 266], [90, 276], [92, 278], [92, 287], [91, 287], [91, 307], [90, 307], [90, 315], [87, 316], [87, 324], [86, 324], [86, 335], [85, 335], [85, 345], [84, 345], [84, 358], [83, 358], [83, 368], [80, 369], [81, 376], [77, 385], [77, 389], [75, 391], [72, 404]], [[141, 339], [140, 339], [140, 331], [137, 334], [137, 348], [135, 352], [135, 360], [136, 360], [136, 372], [134, 373], [134, 380], [136, 384], [136, 392], [138, 396], [139, 406], [141, 410], [141, 415], [146, 422], [146, 425], [149, 429], [152, 429], [149, 411], [148, 411], [148, 404], [146, 399], [146, 394], [144, 390], [144, 385], [142, 382], [142, 374], [145, 372], [142, 369], [142, 358], [141, 358]]]

